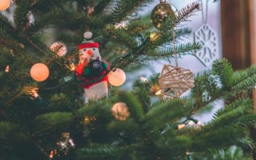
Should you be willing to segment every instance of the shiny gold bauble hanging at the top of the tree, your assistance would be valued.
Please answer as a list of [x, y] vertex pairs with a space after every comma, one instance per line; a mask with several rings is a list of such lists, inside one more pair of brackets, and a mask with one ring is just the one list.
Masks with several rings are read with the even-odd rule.
[[162, 23], [168, 17], [175, 15], [170, 4], [166, 3], [166, 0], [160, 0], [160, 4], [158, 4], [151, 12], [151, 20], [156, 28], [161, 28]]

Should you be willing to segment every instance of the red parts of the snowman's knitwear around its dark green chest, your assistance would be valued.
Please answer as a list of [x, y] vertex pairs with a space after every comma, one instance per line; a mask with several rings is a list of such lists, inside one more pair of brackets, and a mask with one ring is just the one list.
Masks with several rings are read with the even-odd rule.
[[[110, 70], [109, 63], [107, 61], [104, 61], [104, 62], [108, 65], [108, 70]], [[80, 79], [82, 79], [84, 81], [84, 84], [82, 84], [83, 88], [89, 89], [92, 86], [94, 86], [95, 84], [98, 84], [102, 81], [107, 81], [108, 82], [108, 76], [103, 76], [103, 75], [105, 75], [105, 73], [107, 71], [103, 71], [99, 76], [94, 77], [94, 79], [86, 79], [86, 77], [82, 76], [83, 75], [83, 70], [84, 70], [84, 67], [83, 67], [82, 63], [78, 64], [78, 66], [75, 68], [75, 73], [77, 74], [77, 76], [80, 77]], [[89, 81], [99, 79], [99, 77], [101, 77], [101, 76], [103, 76], [103, 77], [99, 81], [88, 84]]]

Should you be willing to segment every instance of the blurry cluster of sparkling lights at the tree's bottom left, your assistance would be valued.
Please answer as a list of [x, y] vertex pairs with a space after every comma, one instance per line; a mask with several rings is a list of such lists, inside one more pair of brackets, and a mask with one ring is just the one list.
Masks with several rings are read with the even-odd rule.
[[53, 159], [54, 156], [67, 156], [69, 151], [73, 149], [75, 149], [74, 140], [70, 137], [69, 132], [64, 132], [61, 134], [61, 140], [56, 143], [56, 148], [50, 151], [49, 158]]

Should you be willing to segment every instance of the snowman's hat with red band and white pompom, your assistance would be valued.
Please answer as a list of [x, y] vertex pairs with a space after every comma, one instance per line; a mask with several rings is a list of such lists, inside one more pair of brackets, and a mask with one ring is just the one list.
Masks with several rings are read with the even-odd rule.
[[82, 44], [78, 44], [78, 49], [86, 49], [86, 48], [99, 48], [99, 43], [94, 42], [91, 37], [92, 33], [90, 31], [87, 31], [83, 34], [83, 42]]

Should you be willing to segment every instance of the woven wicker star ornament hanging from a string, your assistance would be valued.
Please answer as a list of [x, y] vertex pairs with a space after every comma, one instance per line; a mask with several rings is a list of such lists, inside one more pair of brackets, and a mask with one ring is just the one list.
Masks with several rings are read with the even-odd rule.
[[194, 87], [194, 74], [188, 69], [164, 65], [159, 76], [159, 86], [165, 97], [179, 97]]

